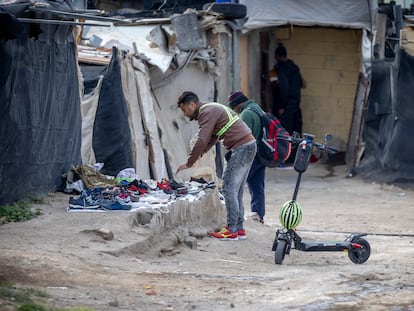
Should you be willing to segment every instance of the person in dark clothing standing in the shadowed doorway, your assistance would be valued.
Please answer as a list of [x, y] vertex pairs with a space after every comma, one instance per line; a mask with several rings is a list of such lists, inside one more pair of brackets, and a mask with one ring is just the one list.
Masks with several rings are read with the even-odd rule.
[[273, 92], [273, 114], [290, 133], [302, 134], [301, 89], [306, 87], [299, 66], [288, 59], [286, 48], [279, 44], [275, 50], [276, 64], [269, 72]]

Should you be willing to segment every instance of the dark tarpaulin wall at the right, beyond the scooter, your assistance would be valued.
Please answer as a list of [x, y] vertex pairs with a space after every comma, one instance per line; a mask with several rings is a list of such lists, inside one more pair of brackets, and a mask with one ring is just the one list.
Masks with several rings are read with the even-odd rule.
[[356, 173], [383, 183], [414, 182], [414, 57], [373, 63], [365, 119], [365, 153]]

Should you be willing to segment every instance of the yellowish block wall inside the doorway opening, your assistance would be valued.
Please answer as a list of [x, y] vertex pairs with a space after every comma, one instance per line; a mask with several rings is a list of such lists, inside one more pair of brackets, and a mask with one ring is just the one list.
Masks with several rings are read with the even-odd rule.
[[279, 28], [274, 36], [307, 82], [302, 91], [303, 131], [317, 139], [329, 132], [346, 144], [361, 64], [361, 31], [293, 27]]

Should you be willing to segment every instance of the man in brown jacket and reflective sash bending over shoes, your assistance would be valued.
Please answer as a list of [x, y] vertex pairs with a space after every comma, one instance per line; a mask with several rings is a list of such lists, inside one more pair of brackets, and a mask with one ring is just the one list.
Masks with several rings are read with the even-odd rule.
[[256, 141], [249, 127], [230, 108], [219, 103], [202, 103], [193, 92], [184, 92], [177, 105], [190, 121], [199, 125], [197, 140], [187, 162], [177, 168], [177, 173], [193, 164], [217, 141], [226, 153], [227, 166], [223, 172], [223, 196], [227, 209], [227, 226], [211, 236], [223, 241], [246, 238], [244, 223], [243, 188], [250, 166], [256, 155]]

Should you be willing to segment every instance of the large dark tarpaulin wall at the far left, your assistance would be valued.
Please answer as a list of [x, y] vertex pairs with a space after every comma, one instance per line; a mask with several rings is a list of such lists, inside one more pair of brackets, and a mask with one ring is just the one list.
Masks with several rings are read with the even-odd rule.
[[0, 205], [56, 190], [81, 163], [72, 27], [20, 24], [0, 38]]

